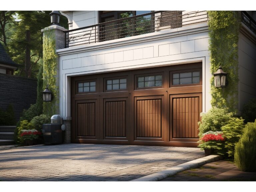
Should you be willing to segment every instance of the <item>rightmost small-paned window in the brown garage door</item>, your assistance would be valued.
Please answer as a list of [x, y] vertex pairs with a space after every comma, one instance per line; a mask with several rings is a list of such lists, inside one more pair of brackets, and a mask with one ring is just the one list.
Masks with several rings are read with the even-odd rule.
[[172, 84], [173, 85], [183, 85], [183, 84], [193, 84], [199, 83], [200, 81], [200, 72], [187, 72], [187, 73], [174, 73], [172, 75]]

